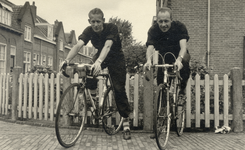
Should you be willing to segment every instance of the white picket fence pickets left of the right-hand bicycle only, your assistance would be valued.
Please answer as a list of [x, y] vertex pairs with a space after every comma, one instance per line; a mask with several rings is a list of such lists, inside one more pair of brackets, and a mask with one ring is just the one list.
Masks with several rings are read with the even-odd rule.
[[[10, 112], [11, 104], [8, 99], [8, 85], [10, 75], [1, 74], [0, 76], [0, 106], [1, 113], [7, 115]], [[103, 78], [99, 80], [99, 100], [101, 100], [103, 92]], [[126, 91], [128, 97], [129, 84], [134, 85], [134, 112], [130, 117], [134, 119], [134, 126], [138, 126], [138, 119], [143, 119], [143, 114], [138, 114], [138, 75], [135, 75], [134, 82], [130, 82], [127, 75]], [[73, 81], [78, 82], [78, 75], [74, 75]], [[19, 97], [18, 97], [18, 117], [23, 119], [39, 119], [54, 121], [56, 108], [60, 100], [61, 75], [58, 73], [56, 78], [52, 74], [49, 78], [48, 74], [20, 74], [19, 76]], [[56, 87], [56, 88], [54, 88]], [[88, 111], [88, 116], [91, 112]], [[92, 119], [92, 118], [91, 118]]]

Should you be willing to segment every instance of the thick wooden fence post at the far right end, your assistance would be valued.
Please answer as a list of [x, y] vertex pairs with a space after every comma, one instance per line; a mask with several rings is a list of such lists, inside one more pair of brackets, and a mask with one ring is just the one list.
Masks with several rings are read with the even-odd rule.
[[232, 68], [232, 103], [233, 103], [233, 121], [232, 129], [234, 132], [243, 131], [243, 113], [242, 113], [242, 73], [238, 67]]

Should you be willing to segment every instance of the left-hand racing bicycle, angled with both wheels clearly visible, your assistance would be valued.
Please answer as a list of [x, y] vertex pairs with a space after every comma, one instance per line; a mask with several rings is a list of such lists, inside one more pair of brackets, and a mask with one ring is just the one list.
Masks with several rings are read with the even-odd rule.
[[104, 97], [101, 101], [96, 101], [86, 88], [87, 78], [95, 78], [92, 76], [91, 64], [65, 64], [62, 68], [62, 74], [69, 78], [70, 76], [66, 73], [67, 66], [74, 68], [74, 74], [78, 73], [79, 82], [72, 83], [64, 91], [58, 104], [55, 131], [60, 145], [65, 148], [75, 145], [85, 129], [88, 110], [92, 112], [92, 116], [95, 119], [102, 122], [107, 134], [114, 135], [118, 133], [122, 126], [123, 118], [118, 114], [109, 73], [100, 73], [98, 75], [98, 77], [104, 79], [105, 86]]

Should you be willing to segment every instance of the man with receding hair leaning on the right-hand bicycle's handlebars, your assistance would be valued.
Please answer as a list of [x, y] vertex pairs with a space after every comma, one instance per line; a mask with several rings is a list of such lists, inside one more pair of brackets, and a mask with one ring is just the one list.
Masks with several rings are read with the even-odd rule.
[[[175, 63], [180, 70], [182, 81], [178, 99], [181, 100], [181, 102], [186, 100], [185, 88], [190, 76], [190, 56], [187, 50], [188, 40], [189, 35], [185, 25], [179, 21], [172, 20], [172, 10], [167, 7], [160, 8], [157, 14], [157, 23], [152, 25], [148, 31], [146, 42], [147, 62], [145, 67], [150, 69], [153, 52], [155, 50], [158, 50], [162, 56], [167, 52], [173, 53], [177, 58], [176, 61], [171, 55], [166, 55], [164, 61], [165, 63]], [[159, 57], [158, 63], [163, 63], [161, 57]], [[163, 75], [162, 68], [159, 68], [157, 71], [158, 85], [163, 83]], [[154, 138], [154, 136], [151, 136], [151, 138]]]

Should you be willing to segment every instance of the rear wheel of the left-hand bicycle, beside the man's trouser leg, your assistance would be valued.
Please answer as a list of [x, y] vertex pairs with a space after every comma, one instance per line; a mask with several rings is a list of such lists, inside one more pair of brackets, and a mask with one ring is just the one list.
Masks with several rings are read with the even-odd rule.
[[105, 132], [108, 135], [118, 133], [123, 124], [123, 117], [118, 112], [112, 87], [109, 87], [104, 93], [102, 116], [102, 125]]

